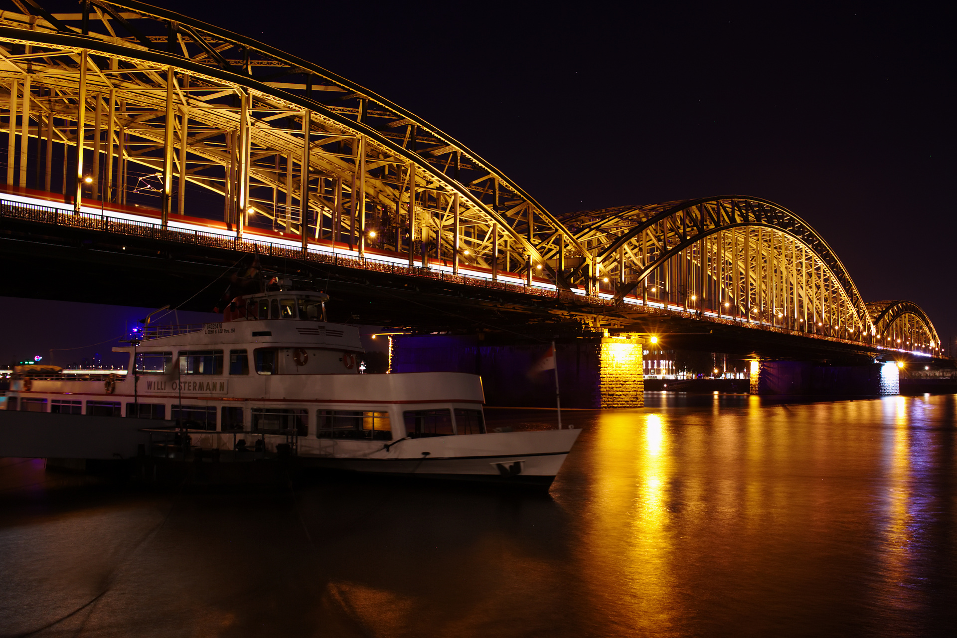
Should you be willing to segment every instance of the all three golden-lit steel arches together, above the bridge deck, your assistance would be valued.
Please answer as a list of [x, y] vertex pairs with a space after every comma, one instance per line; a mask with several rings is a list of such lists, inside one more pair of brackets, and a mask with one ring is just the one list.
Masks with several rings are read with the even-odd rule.
[[101, 211], [158, 202], [165, 228], [214, 218], [235, 239], [292, 237], [303, 255], [340, 245], [359, 259], [521, 277], [605, 307], [940, 349], [920, 308], [866, 304], [827, 242], [772, 202], [729, 195], [559, 218], [367, 88], [141, 2], [12, 0], [0, 13], [0, 87], [8, 189], [60, 192], [78, 215], [91, 200]]

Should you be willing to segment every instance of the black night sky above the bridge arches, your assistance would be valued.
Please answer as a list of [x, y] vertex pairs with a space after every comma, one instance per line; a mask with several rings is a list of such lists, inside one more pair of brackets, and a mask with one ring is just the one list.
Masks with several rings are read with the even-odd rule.
[[163, 3], [367, 86], [555, 214], [766, 197], [957, 333], [950, 3]]

